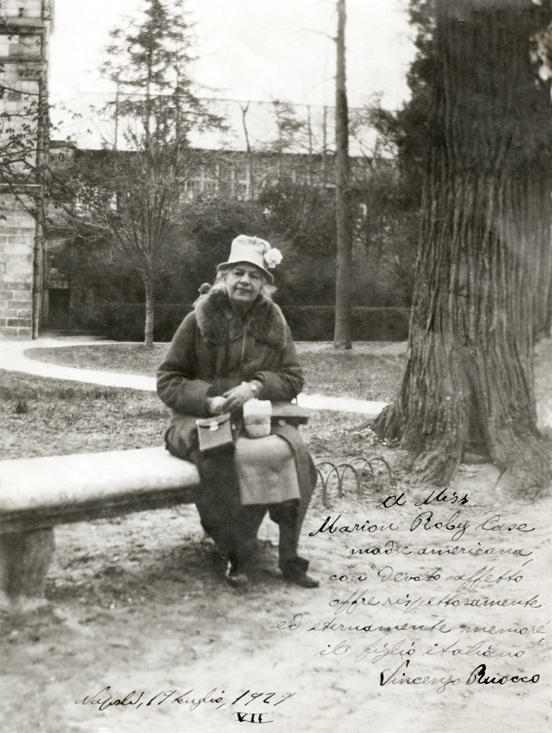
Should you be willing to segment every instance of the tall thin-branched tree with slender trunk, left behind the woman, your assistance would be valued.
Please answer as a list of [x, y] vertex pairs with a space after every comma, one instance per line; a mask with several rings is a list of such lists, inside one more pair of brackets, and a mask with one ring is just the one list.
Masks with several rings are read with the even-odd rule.
[[[222, 120], [192, 92], [189, 26], [183, 3], [147, 0], [144, 18], [111, 32], [103, 73], [117, 84], [108, 111], [126, 151], [81, 158], [67, 185], [76, 194], [68, 221], [81, 236], [99, 237], [123, 254], [144, 284], [144, 344], [153, 342], [153, 301], [159, 254], [175, 224], [193, 216], [185, 181], [201, 165], [192, 130], [221, 128]], [[106, 143], [107, 146], [107, 143]]]

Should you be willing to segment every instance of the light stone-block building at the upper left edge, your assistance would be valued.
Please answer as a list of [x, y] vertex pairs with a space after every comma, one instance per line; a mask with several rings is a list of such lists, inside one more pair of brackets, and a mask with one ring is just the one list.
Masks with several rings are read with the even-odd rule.
[[52, 0], [0, 2], [0, 339], [30, 339], [40, 324], [43, 251], [34, 216], [40, 207], [40, 186], [29, 175], [29, 167], [15, 161], [14, 135], [29, 125], [26, 134], [32, 144], [26, 154], [34, 164], [45, 125], [40, 115], [26, 119], [25, 110], [29, 104], [45, 108], [52, 4]]

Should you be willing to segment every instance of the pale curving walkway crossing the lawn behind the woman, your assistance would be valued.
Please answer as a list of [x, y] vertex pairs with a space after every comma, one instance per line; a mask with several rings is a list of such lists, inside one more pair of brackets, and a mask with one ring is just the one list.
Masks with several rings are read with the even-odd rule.
[[[120, 342], [106, 339], [90, 339], [89, 336], [59, 336], [56, 338], [40, 337], [29, 341], [1, 341], [0, 369], [11, 372], [23, 372], [37, 377], [51, 377], [74, 382], [100, 384], [104, 387], [126, 387], [155, 392], [155, 377], [144, 377], [136, 374], [119, 372], [100, 372], [95, 369], [78, 369], [62, 367], [59, 364], [48, 364], [25, 356], [30, 349], [44, 349], [66, 346], [117, 345]], [[323, 394], [301, 394], [297, 398], [298, 405], [309, 410], [337, 410], [339, 412], [361, 413], [369, 417], [377, 416], [387, 402], [372, 402], [368, 399], [352, 399], [349, 397], [325, 397]]]

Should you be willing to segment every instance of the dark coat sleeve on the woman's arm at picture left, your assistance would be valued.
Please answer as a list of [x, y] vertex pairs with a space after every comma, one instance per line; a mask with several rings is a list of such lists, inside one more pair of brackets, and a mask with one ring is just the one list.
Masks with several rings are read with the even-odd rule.
[[196, 316], [188, 313], [172, 338], [165, 361], [157, 372], [157, 394], [174, 412], [208, 417], [205, 400], [213, 387], [196, 379]]

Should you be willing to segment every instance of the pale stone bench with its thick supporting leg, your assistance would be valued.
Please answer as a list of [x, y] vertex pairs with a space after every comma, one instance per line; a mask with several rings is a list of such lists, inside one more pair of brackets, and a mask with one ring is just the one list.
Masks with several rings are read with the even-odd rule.
[[56, 524], [191, 503], [198, 484], [164, 446], [0, 461], [0, 608], [45, 603]]

